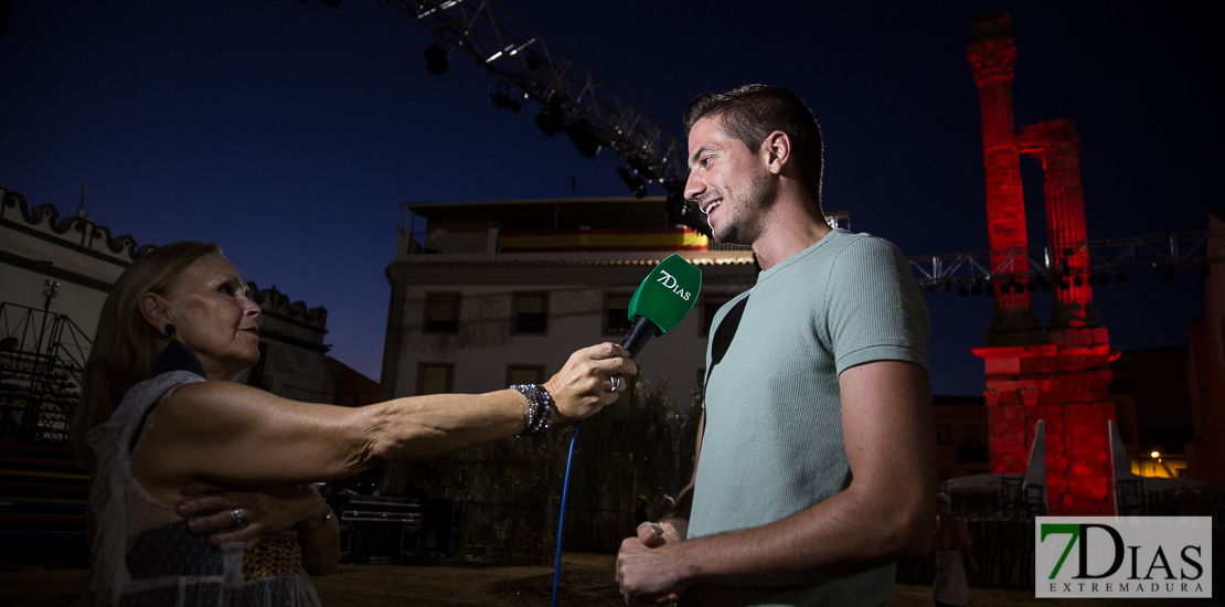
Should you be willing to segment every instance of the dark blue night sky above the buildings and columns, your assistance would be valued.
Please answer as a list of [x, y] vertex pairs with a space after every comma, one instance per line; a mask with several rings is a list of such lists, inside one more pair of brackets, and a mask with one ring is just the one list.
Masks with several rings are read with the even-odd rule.
[[[986, 11], [1013, 18], [1017, 125], [1077, 128], [1090, 239], [1202, 231], [1225, 206], [1221, 2], [505, 1], [677, 137], [697, 93], [793, 88], [824, 131], [826, 210], [908, 255], [987, 249], [965, 59]], [[0, 184], [65, 215], [88, 184], [116, 235], [219, 243], [246, 280], [326, 307], [332, 356], [377, 380], [399, 202], [627, 194], [611, 153], [545, 137], [535, 104], [497, 109], [464, 55], [428, 72], [434, 42], [376, 0], [16, 0]], [[1022, 172], [1044, 244], [1041, 169]], [[1115, 348], [1185, 346], [1202, 291], [1194, 270], [1140, 272], [1095, 303]], [[990, 299], [925, 296], [933, 392], [980, 394]], [[1045, 324], [1050, 293], [1034, 302]]]

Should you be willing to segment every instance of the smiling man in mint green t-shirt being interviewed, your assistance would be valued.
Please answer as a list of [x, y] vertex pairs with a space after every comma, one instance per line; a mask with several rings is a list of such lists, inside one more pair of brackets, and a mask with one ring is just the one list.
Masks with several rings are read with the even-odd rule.
[[710, 329], [693, 481], [622, 542], [617, 582], [642, 605], [883, 605], [933, 532], [919, 288], [895, 246], [826, 223], [821, 130], [794, 93], [702, 94], [685, 125], [685, 197], [762, 272]]

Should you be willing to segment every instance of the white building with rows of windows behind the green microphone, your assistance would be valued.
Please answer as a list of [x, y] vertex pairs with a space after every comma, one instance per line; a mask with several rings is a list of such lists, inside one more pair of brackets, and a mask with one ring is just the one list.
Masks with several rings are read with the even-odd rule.
[[[702, 270], [702, 292], [638, 354], [637, 379], [666, 379], [687, 407], [712, 315], [757, 278], [750, 250], [708, 250], [704, 235], [668, 223], [662, 196], [401, 206], [405, 229], [387, 266], [385, 397], [546, 380], [575, 349], [620, 343], [630, 297], [676, 253]], [[414, 232], [409, 213], [426, 228]]]

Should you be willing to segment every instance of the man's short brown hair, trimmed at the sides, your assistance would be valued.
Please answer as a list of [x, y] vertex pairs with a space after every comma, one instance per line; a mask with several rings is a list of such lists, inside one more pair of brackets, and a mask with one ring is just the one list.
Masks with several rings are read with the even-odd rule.
[[702, 93], [685, 108], [685, 135], [698, 120], [710, 116], [723, 119], [723, 131], [753, 152], [761, 150], [771, 132], [785, 132], [791, 140], [800, 183], [821, 206], [821, 125], [804, 99], [786, 88], [769, 85], [746, 85], [720, 94]]

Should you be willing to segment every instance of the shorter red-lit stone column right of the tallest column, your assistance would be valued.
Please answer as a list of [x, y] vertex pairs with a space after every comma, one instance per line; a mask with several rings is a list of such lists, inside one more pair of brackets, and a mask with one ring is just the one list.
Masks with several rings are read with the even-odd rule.
[[1055, 283], [1055, 315], [1047, 330], [1098, 326], [1089, 251], [1083, 245], [1089, 235], [1080, 186], [1080, 140], [1072, 123], [1047, 120], [1018, 131], [1017, 148], [1034, 155], [1045, 175], [1046, 234], [1051, 262], [1062, 278]]

